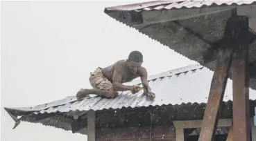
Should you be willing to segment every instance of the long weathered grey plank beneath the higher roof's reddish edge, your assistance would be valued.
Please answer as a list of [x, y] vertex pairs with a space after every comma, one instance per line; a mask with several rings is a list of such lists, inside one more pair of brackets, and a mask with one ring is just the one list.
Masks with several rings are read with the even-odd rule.
[[[214, 6], [210, 8], [189, 8], [189, 9], [172, 9], [172, 10], [149, 10], [149, 11], [142, 11], [142, 13], [139, 12], [139, 18], [137, 18], [137, 15], [131, 15], [130, 19], [136, 19], [133, 20], [133, 22], [129, 21], [129, 23], [132, 23], [133, 27], [137, 26], [147, 26], [153, 23], [163, 23], [168, 21], [176, 21], [176, 20], [183, 20], [183, 19], [190, 19], [194, 17], [200, 17], [200, 16], [207, 16], [212, 15], [219, 12], [225, 12], [228, 10], [232, 10], [233, 8], [237, 8], [237, 14], [238, 15], [246, 15], [248, 17], [255, 18], [255, 10], [256, 6]], [[138, 12], [137, 12], [138, 13]], [[130, 20], [129, 18], [126, 18], [126, 20]], [[254, 20], [254, 19], [253, 19]], [[128, 22], [128, 21], [127, 21]], [[255, 29], [255, 25], [253, 24], [253, 21], [250, 22], [251, 28]]]

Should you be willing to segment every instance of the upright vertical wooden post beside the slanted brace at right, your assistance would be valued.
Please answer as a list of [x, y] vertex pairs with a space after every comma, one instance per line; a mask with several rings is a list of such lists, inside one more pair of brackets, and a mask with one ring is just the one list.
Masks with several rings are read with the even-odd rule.
[[232, 19], [234, 29], [232, 46], [234, 58], [232, 61], [233, 81], [233, 126], [234, 141], [250, 140], [250, 109], [248, 88], [248, 17], [237, 16]]

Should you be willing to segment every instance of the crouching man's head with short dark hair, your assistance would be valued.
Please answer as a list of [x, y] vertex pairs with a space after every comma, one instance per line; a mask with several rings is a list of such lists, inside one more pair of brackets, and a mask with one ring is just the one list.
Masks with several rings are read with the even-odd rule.
[[137, 73], [142, 66], [143, 56], [139, 51], [132, 51], [127, 59], [127, 66], [131, 73]]

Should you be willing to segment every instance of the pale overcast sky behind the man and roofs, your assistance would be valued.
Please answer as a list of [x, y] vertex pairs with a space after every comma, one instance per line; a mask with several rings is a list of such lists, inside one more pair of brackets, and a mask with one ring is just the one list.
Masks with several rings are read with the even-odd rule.
[[[134, 1], [130, 2], [133, 3]], [[35, 106], [90, 88], [97, 66], [144, 55], [149, 75], [195, 62], [115, 21], [103, 10], [128, 2], [2, 2], [1, 109]], [[15, 122], [1, 110], [2, 141], [85, 141], [86, 136], [42, 124]]]

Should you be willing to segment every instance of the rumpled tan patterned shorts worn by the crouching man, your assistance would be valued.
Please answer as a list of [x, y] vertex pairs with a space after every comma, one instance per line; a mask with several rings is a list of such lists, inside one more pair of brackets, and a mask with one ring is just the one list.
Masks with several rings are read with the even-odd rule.
[[96, 68], [96, 70], [90, 73], [89, 83], [92, 85], [93, 88], [100, 88], [103, 90], [109, 90], [112, 88], [112, 83], [103, 76], [101, 68]]

